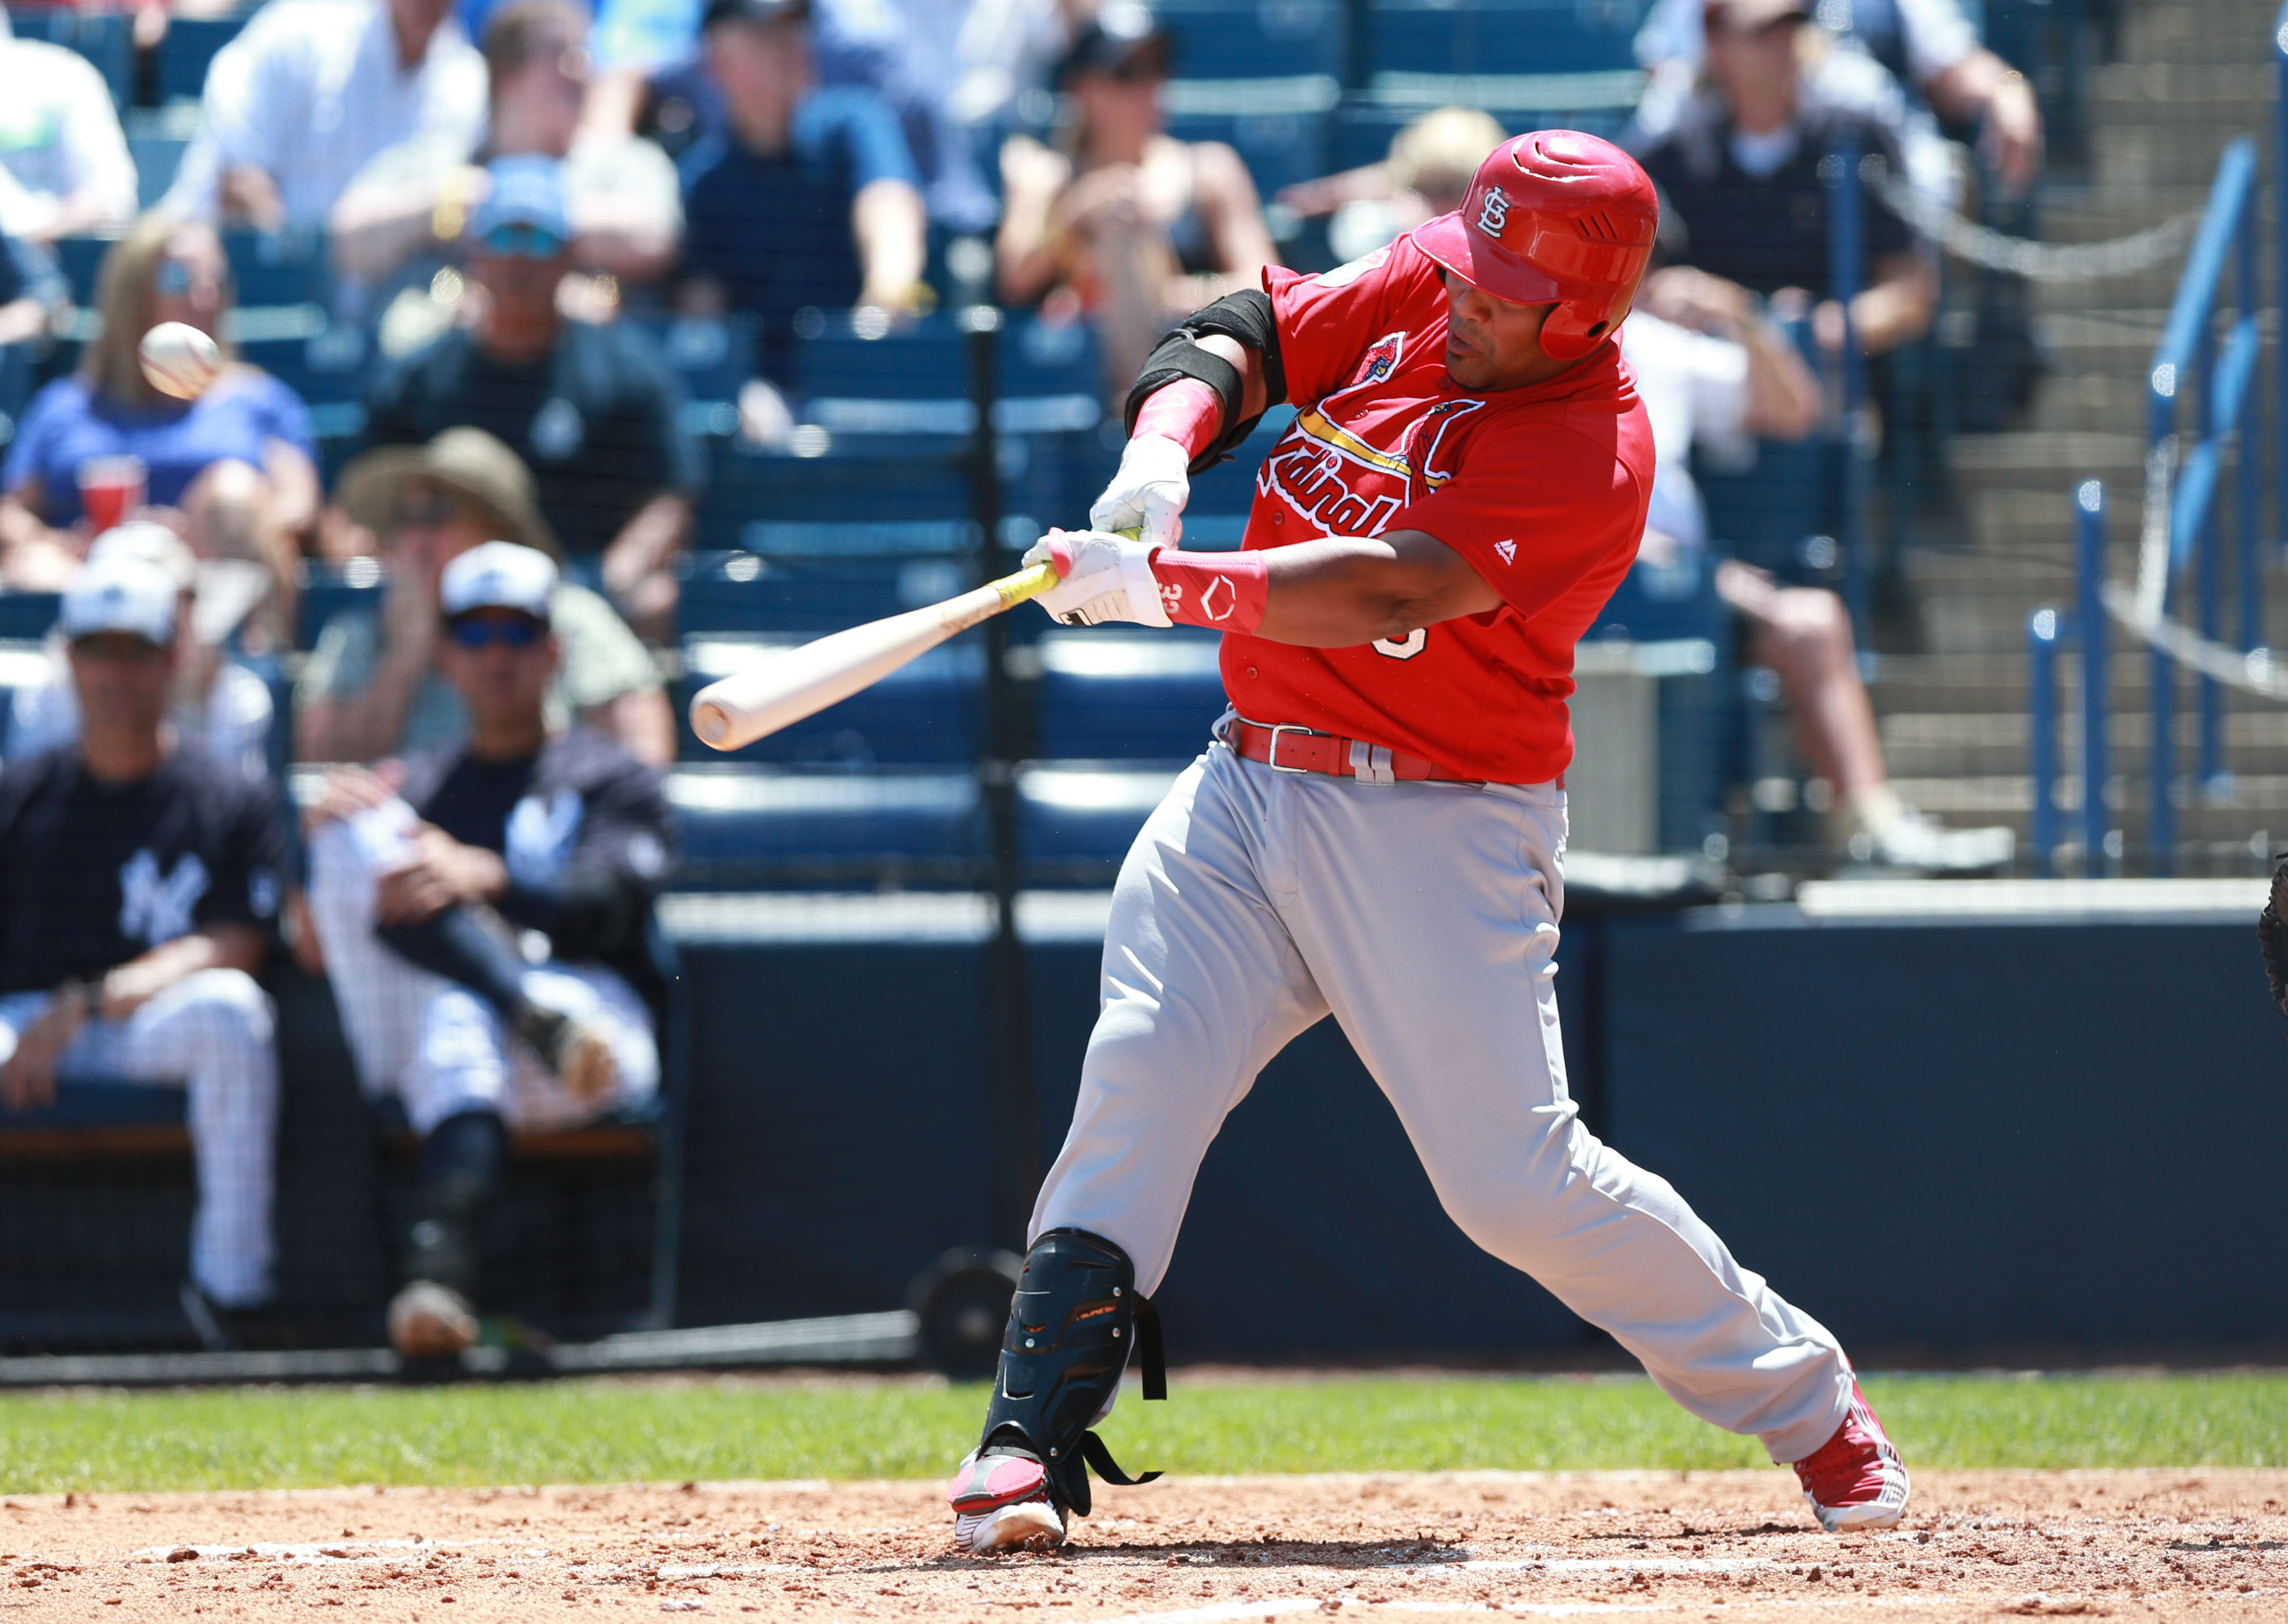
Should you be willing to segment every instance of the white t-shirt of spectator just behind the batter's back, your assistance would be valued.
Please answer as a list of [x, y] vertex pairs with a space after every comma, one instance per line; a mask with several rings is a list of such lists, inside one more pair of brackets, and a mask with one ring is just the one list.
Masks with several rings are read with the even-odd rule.
[[1620, 325], [1620, 357], [1652, 419], [1652, 510], [1645, 528], [1666, 531], [1686, 551], [1707, 544], [1707, 512], [1693, 485], [1693, 441], [1734, 467], [1755, 460], [1748, 435], [1748, 345], [1711, 339], [1634, 311]]

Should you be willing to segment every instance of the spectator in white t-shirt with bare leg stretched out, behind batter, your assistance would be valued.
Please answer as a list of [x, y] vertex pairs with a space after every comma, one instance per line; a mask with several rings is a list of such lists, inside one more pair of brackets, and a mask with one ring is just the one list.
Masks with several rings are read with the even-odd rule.
[[[1620, 329], [1620, 352], [1652, 416], [1652, 510], [1638, 572], [1695, 579], [1709, 535], [1691, 453], [1716, 464], [1755, 460], [1755, 441], [1810, 437], [1819, 380], [1796, 343], [1737, 281], [1689, 265], [1654, 270]], [[1746, 659], [1780, 677], [1796, 743], [1828, 785], [1835, 844], [1858, 862], [1920, 871], [1986, 871], [2011, 858], [2007, 828], [1949, 830], [1899, 801], [1883, 769], [1874, 704], [1858, 672], [1851, 615], [1819, 586], [1792, 586], [1739, 558], [1714, 558], [1716, 592], [1746, 622]]]

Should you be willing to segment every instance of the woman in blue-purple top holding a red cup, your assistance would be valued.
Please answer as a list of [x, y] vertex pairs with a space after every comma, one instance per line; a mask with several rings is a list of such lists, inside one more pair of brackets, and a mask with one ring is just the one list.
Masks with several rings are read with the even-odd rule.
[[[318, 510], [318, 453], [302, 396], [231, 355], [222, 242], [210, 226], [144, 215], [103, 256], [96, 307], [103, 329], [80, 371], [32, 398], [0, 464], [0, 579], [55, 590], [96, 531], [146, 510], [199, 558], [270, 572], [247, 647], [281, 647], [297, 538]], [[144, 377], [137, 345], [158, 323], [188, 323], [222, 348], [222, 375], [197, 400], [162, 396]], [[119, 478], [130, 485], [124, 496]]]

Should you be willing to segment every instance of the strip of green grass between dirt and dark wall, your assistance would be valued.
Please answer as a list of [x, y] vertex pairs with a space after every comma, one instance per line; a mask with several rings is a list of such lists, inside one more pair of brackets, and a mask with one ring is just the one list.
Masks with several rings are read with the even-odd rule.
[[[1872, 1377], [1917, 1466], [2283, 1466], [2288, 1372]], [[558, 1382], [0, 1398], [0, 1494], [936, 1478], [984, 1391], [929, 1382]], [[1130, 1471], [1757, 1466], [1640, 1377], [1201, 1379], [1105, 1425]]]

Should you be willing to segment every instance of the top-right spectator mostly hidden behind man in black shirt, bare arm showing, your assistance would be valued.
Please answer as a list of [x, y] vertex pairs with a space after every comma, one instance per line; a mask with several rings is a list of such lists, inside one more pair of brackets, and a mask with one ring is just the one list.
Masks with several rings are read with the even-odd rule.
[[[1652, 71], [1638, 108], [1643, 140], [1666, 135], [1691, 101], [1705, 55], [1707, 0], [1659, 0], [1636, 34], [1636, 59]], [[1881, 62], [1901, 85], [1929, 98], [1938, 117], [1979, 130], [1979, 151], [2011, 194], [2041, 172], [2041, 103], [2025, 75], [1979, 43], [1956, 0], [1821, 0], [1817, 18], [1844, 46]], [[1936, 137], [1936, 130], [1929, 133]], [[1954, 201], [1956, 188], [1933, 165], [1917, 126], [1908, 135], [1908, 167], [1917, 188]]]

